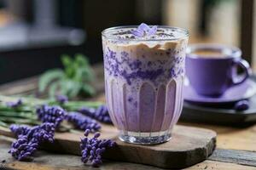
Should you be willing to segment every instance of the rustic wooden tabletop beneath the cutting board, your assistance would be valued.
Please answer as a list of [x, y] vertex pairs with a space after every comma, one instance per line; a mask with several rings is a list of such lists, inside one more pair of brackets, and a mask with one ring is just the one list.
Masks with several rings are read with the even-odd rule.
[[[97, 72], [102, 72], [101, 66], [96, 67]], [[100, 70], [100, 71], [98, 71]], [[102, 74], [97, 75], [101, 81]], [[0, 86], [0, 94], [34, 94], [37, 89], [37, 77], [26, 80], [12, 82]], [[103, 83], [96, 83], [100, 94], [96, 99], [104, 99], [102, 94]], [[251, 127], [224, 127], [217, 125], [195, 124], [188, 122], [178, 122], [179, 124], [206, 127], [218, 133], [217, 149], [206, 161], [196, 164], [186, 169], [255, 169], [256, 170], [256, 125]], [[79, 156], [58, 155], [45, 151], [38, 151], [34, 161], [21, 162], [15, 161], [7, 152], [10, 147], [10, 139], [0, 136], [0, 170], [5, 169], [91, 169], [84, 166]], [[94, 168], [93, 168], [94, 169]], [[100, 169], [160, 169], [145, 165], [132, 164], [119, 161], [104, 161]]]

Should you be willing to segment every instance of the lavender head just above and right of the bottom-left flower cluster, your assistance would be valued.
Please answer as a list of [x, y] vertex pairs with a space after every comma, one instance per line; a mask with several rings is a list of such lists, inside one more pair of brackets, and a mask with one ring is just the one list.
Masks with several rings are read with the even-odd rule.
[[42, 122], [52, 122], [55, 124], [55, 127], [58, 127], [64, 120], [66, 111], [60, 106], [42, 105], [37, 109], [37, 114]]

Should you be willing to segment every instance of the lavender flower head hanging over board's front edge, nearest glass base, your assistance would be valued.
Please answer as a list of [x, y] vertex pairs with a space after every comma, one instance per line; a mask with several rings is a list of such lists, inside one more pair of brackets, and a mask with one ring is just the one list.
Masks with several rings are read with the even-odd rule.
[[93, 167], [99, 167], [102, 164], [102, 154], [106, 148], [112, 148], [116, 143], [111, 139], [98, 139], [100, 133], [96, 133], [92, 139], [88, 138], [90, 129], [86, 129], [84, 132], [84, 139], [81, 139], [81, 161], [84, 163], [91, 163]]

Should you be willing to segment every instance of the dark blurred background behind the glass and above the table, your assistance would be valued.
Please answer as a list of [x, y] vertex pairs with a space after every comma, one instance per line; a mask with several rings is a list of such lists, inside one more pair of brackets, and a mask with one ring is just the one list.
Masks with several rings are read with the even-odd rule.
[[0, 83], [60, 67], [61, 54], [102, 62], [101, 31], [110, 26], [187, 28], [189, 43], [238, 46], [253, 65], [253, 0], [0, 0]]

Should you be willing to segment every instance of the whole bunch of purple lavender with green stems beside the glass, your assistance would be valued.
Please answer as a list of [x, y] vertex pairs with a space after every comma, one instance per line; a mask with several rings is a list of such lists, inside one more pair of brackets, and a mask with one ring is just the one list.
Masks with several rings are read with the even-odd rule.
[[[40, 144], [54, 142], [55, 131], [64, 121], [85, 130], [85, 138], [81, 139], [84, 163], [100, 166], [102, 153], [115, 144], [112, 140], [98, 139], [99, 122], [111, 122], [108, 109], [102, 103], [68, 101], [66, 96], [56, 96], [55, 100], [6, 96], [0, 96], [0, 99], [0, 126], [9, 127], [15, 133], [17, 139], [9, 153], [18, 161], [31, 161]], [[74, 131], [73, 127], [70, 132]], [[89, 133], [95, 133], [92, 139], [88, 138]]]

